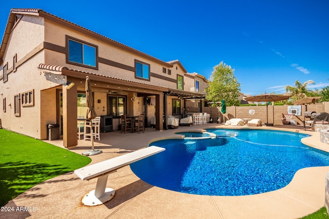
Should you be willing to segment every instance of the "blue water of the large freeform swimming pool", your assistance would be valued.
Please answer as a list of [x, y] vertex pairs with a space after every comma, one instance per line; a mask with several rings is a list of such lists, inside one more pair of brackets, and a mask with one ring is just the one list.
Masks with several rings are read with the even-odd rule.
[[[329, 153], [301, 143], [305, 134], [208, 129], [214, 139], [161, 140], [166, 151], [131, 164], [144, 182], [202, 195], [250, 195], [280, 189], [305, 167], [329, 166]], [[234, 135], [236, 135], [234, 137]]]

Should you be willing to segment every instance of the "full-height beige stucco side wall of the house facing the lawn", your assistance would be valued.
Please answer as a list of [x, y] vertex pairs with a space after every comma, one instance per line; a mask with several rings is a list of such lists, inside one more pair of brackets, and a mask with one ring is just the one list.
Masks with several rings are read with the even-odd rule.
[[[0, 83], [1, 97], [6, 98], [6, 112], [2, 110], [0, 112], [3, 127], [35, 138], [40, 138], [41, 132], [44, 131], [40, 125], [39, 115], [40, 90], [45, 88], [45, 83], [43, 82], [44, 77], [36, 70], [36, 66], [44, 62], [44, 53], [35, 54], [25, 63], [23, 63], [23, 59], [42, 44], [44, 41], [43, 30], [43, 18], [41, 17], [24, 15], [16, 24], [10, 34], [10, 43], [6, 48], [4, 63], [8, 62], [8, 69], [12, 70], [13, 56], [17, 54], [17, 69], [16, 72], [9, 71], [7, 82], [1, 81]], [[3, 74], [3, 71], [0, 74]], [[15, 116], [14, 95], [32, 89], [34, 89], [34, 106], [21, 106], [21, 116]]]

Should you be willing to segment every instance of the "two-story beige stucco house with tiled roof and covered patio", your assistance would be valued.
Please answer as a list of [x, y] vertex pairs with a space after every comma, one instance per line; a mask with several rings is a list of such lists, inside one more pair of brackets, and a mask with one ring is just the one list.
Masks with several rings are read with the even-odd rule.
[[[163, 118], [183, 115], [185, 102], [204, 101], [207, 79], [179, 61], [158, 58], [40, 9], [12, 9], [0, 47], [0, 121], [34, 138], [59, 124], [63, 144], [78, 144], [89, 76], [98, 115], [145, 115], [145, 125], [167, 129]], [[200, 105], [200, 111], [202, 110]], [[162, 123], [163, 121], [163, 123]]]

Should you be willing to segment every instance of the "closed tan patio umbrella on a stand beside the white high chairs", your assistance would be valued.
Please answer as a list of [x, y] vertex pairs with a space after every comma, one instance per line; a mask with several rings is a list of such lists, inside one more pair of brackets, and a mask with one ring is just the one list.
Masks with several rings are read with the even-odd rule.
[[85, 86], [85, 90], [86, 90], [86, 104], [87, 104], [87, 120], [90, 121], [90, 126], [92, 126], [90, 128], [90, 141], [92, 142], [92, 150], [89, 150], [87, 152], [83, 152], [82, 154], [84, 155], [96, 155], [96, 154], [100, 154], [102, 153], [101, 150], [95, 150], [94, 149], [94, 136], [93, 136], [93, 119], [95, 117], [97, 117], [97, 113], [94, 109], [94, 98], [93, 98], [93, 93], [92, 93], [92, 85], [90, 84], [90, 79], [89, 76], [86, 77], [86, 86]]

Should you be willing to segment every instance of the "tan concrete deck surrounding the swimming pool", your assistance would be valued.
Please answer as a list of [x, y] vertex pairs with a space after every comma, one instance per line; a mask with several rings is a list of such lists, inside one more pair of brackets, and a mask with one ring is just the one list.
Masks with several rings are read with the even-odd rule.
[[[101, 133], [101, 141], [95, 141], [95, 148], [103, 153], [90, 156], [90, 164], [147, 147], [155, 138], [177, 137], [174, 132], [178, 130], [192, 131], [217, 125], [179, 127], [162, 132], [147, 128], [145, 133], [140, 134]], [[220, 128], [232, 127], [221, 125]], [[329, 152], [329, 145], [321, 143], [320, 134], [310, 131], [310, 128], [306, 131], [301, 126], [290, 125], [262, 128], [311, 134], [312, 137], [303, 138], [303, 143]], [[63, 145], [61, 140], [46, 142], [60, 147]], [[81, 154], [89, 149], [90, 142], [79, 140], [78, 147], [71, 151]], [[108, 176], [107, 187], [115, 189], [114, 198], [95, 207], [84, 206], [81, 198], [95, 189], [97, 180], [82, 181], [69, 172], [17, 196], [6, 205], [13, 207], [14, 211], [0, 211], [0, 218], [299, 218], [324, 206], [327, 172], [329, 167], [301, 169], [290, 184], [277, 191], [247, 196], [207, 196], [152, 186], [141, 181], [129, 166], [125, 166]], [[16, 211], [16, 207], [21, 206], [26, 207], [25, 211]]]

